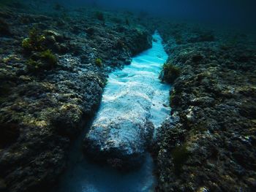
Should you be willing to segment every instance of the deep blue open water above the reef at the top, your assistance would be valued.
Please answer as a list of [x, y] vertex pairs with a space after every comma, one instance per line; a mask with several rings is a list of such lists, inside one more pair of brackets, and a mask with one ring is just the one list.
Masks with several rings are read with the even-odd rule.
[[94, 4], [165, 17], [255, 25], [256, 0], [62, 0], [65, 4]]

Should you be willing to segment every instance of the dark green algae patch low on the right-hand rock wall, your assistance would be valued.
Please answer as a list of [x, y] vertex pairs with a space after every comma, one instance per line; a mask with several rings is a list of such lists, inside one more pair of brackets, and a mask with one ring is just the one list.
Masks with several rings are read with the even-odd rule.
[[176, 146], [172, 151], [171, 155], [173, 157], [174, 173], [176, 175], [181, 174], [181, 169], [186, 163], [189, 157], [189, 151], [186, 145]]

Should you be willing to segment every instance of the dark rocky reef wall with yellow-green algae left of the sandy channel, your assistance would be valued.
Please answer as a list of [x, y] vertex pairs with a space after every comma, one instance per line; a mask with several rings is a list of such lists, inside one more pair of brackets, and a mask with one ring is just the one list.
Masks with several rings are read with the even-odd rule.
[[47, 191], [105, 77], [151, 47], [151, 35], [116, 13], [19, 7], [0, 11], [0, 191]]

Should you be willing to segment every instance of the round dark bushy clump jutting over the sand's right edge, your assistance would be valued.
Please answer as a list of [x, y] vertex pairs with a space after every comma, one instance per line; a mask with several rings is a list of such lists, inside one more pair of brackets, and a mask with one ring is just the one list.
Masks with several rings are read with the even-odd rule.
[[181, 69], [178, 66], [167, 63], [164, 64], [162, 68], [162, 76], [160, 77], [160, 79], [168, 83], [173, 83], [180, 74]]

